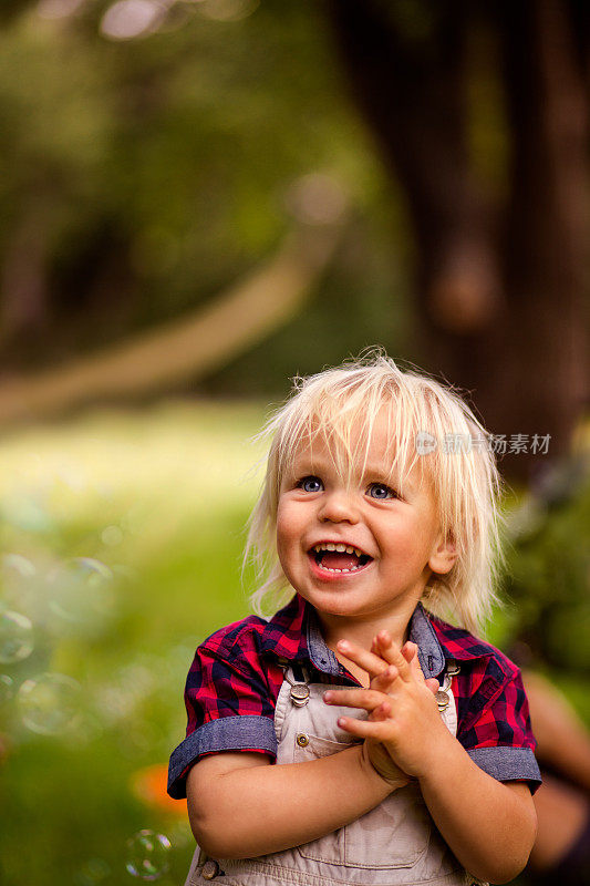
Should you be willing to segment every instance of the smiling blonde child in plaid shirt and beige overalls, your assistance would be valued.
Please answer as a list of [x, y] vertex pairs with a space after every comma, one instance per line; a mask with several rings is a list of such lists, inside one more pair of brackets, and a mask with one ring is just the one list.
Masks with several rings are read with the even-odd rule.
[[269, 431], [253, 598], [294, 597], [197, 650], [169, 784], [201, 846], [187, 883], [511, 879], [539, 782], [520, 676], [433, 615], [472, 628], [494, 598], [493, 455], [442, 445], [483, 429], [379, 354], [300, 382]]

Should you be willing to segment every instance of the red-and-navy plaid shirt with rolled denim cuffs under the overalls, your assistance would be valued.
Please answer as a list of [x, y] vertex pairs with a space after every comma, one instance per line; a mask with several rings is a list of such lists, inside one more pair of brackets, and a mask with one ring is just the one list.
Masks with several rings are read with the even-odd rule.
[[[418, 646], [425, 677], [442, 680], [448, 660], [459, 666], [453, 679], [457, 740], [474, 762], [499, 781], [527, 781], [535, 791], [536, 742], [516, 664], [422, 604], [412, 616], [410, 639]], [[198, 647], [186, 681], [186, 739], [170, 756], [170, 796], [186, 796], [188, 770], [204, 754], [253, 751], [276, 758], [275, 707], [287, 663], [306, 667], [311, 682], [360, 686], [327, 647], [313, 608], [298, 594], [269, 621], [249, 616]]]

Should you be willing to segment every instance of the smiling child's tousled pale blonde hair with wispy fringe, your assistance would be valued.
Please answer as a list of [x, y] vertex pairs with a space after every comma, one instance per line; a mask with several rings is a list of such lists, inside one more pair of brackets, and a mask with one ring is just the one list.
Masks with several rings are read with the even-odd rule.
[[424, 602], [434, 615], [480, 630], [497, 599], [501, 558], [500, 481], [488, 434], [455, 391], [423, 373], [401, 370], [382, 350], [296, 378], [291, 396], [265, 425], [260, 436], [271, 437], [267, 472], [245, 552], [245, 563], [253, 559], [261, 580], [250, 595], [252, 607], [265, 615], [263, 604], [272, 599], [275, 607], [281, 606], [292, 594], [277, 556], [276, 529], [281, 483], [294, 453], [322, 436], [350, 482], [359, 459], [366, 459], [383, 409], [390, 419], [387, 451], [394, 444], [391, 473], [403, 483], [420, 465], [432, 484], [441, 530], [457, 553], [449, 573], [432, 575]]

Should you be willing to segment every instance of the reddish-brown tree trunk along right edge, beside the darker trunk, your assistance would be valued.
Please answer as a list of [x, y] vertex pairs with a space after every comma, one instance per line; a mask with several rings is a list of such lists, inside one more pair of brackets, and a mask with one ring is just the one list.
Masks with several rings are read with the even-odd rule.
[[[567, 453], [586, 393], [588, 115], [567, 3], [497, 6], [513, 133], [504, 421]], [[511, 394], [510, 394], [511, 392]], [[495, 404], [495, 421], [501, 414]], [[517, 427], [517, 425], [521, 425]]]

